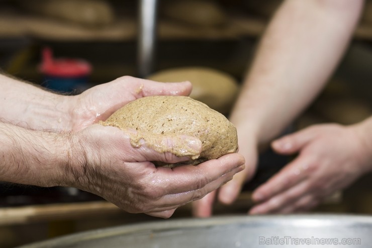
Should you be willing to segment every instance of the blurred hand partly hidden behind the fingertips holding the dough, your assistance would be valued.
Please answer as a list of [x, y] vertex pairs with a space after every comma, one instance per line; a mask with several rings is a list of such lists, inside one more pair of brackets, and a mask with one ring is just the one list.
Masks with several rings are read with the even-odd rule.
[[[239, 132], [238, 132], [239, 134]], [[240, 138], [240, 136], [238, 136]], [[244, 183], [250, 180], [257, 166], [258, 151], [255, 140], [239, 139], [239, 153], [245, 158], [245, 169], [237, 173], [231, 181], [220, 189], [213, 191], [204, 198], [193, 202], [193, 215], [196, 217], [209, 217], [213, 212], [213, 204], [217, 198], [223, 204], [231, 204], [239, 196]]]

